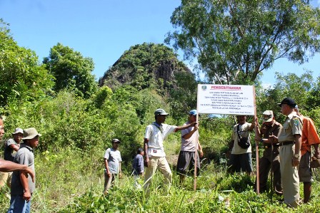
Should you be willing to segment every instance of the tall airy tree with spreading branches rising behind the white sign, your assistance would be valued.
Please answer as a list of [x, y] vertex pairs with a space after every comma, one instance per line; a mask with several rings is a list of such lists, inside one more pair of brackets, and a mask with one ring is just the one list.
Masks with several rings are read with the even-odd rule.
[[278, 58], [304, 63], [320, 48], [320, 10], [301, 0], [183, 0], [166, 43], [214, 83], [250, 83]]

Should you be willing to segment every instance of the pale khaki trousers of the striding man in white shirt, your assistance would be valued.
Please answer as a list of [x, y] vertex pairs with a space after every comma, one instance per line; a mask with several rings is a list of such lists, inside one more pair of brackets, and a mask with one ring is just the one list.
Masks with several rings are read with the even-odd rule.
[[144, 192], [146, 196], [149, 196], [152, 177], [156, 173], [156, 169], [159, 169], [164, 174], [164, 185], [166, 185], [166, 193], [169, 192], [169, 188], [172, 183], [172, 172], [169, 167], [166, 157], [149, 157], [149, 166], [146, 167], [146, 173], [144, 175]]

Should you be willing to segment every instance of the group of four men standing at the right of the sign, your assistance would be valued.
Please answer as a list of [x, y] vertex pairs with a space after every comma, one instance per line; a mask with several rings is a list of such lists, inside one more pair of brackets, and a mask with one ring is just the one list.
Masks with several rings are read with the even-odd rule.
[[[259, 188], [266, 191], [269, 171], [273, 173], [271, 190], [283, 194], [284, 202], [296, 208], [300, 204], [299, 182], [304, 183], [304, 203], [311, 196], [311, 145], [314, 156], [319, 158], [320, 138], [310, 118], [299, 113], [298, 105], [292, 98], [284, 98], [278, 104], [281, 113], [286, 115], [284, 125], [276, 122], [274, 113], [266, 110], [263, 113], [264, 123], [259, 128], [258, 120], [247, 123], [245, 115], [237, 116], [238, 123], [233, 130], [233, 148], [229, 160], [229, 172], [252, 172], [251, 145], [241, 147], [242, 137], [250, 140], [250, 131], [256, 128], [256, 142], [264, 146], [264, 154], [259, 160]], [[271, 176], [272, 177], [272, 176]]]

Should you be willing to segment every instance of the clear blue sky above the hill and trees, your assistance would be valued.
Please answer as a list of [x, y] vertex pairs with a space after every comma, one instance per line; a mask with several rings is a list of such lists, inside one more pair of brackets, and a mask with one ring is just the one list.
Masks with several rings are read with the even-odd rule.
[[[10, 24], [18, 45], [35, 51], [39, 61], [57, 43], [93, 58], [98, 80], [131, 46], [164, 43], [166, 33], [174, 31], [170, 16], [180, 4], [178, 0], [0, 0], [0, 18]], [[320, 0], [311, 4], [319, 6]], [[178, 53], [183, 60], [183, 53]], [[319, 54], [301, 66], [280, 59], [261, 80], [272, 85], [276, 71], [300, 76], [310, 70], [316, 78], [319, 61]]]

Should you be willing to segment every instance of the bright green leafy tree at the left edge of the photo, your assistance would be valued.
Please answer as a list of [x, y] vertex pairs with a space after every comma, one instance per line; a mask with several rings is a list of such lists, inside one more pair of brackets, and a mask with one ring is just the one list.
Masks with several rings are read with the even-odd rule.
[[0, 19], [0, 106], [9, 100], [19, 103], [43, 97], [54, 85], [36, 53], [18, 46], [8, 26]]

